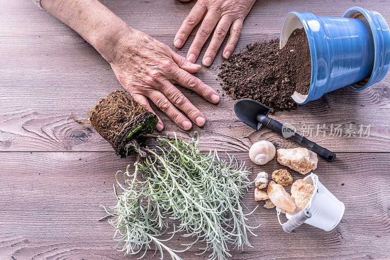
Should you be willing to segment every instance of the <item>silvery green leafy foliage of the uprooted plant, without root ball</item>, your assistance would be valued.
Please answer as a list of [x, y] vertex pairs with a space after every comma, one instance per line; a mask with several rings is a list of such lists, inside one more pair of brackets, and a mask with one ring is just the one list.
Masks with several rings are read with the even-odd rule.
[[[216, 151], [201, 153], [198, 139], [186, 142], [174, 134], [156, 140], [156, 149], [132, 143], [139, 156], [136, 170], [131, 173], [127, 167], [125, 186], [117, 180], [122, 192], [116, 192], [118, 203], [109, 217], [118, 247], [130, 254], [145, 250], [142, 258], [155, 246], [161, 259], [165, 249], [177, 260], [181, 259], [177, 253], [201, 241], [209, 259], [222, 260], [231, 256], [228, 244], [251, 246], [247, 234], [256, 227], [245, 223], [253, 211], [244, 214], [241, 202], [251, 184], [244, 164], [230, 156], [221, 160]], [[168, 220], [176, 220], [178, 226], [169, 228]], [[159, 239], [168, 229], [172, 236]], [[193, 242], [182, 245], [182, 250], [169, 248], [165, 242], [176, 232]]]

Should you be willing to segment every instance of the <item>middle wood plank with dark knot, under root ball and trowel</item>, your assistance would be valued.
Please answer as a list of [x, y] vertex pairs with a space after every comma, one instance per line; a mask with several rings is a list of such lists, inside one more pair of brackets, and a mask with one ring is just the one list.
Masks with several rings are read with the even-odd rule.
[[[275, 34], [243, 36], [238, 49], [259, 38], [277, 37]], [[168, 42], [169, 37], [160, 37]], [[36, 44], [37, 43], [37, 44]], [[69, 113], [85, 117], [85, 111], [97, 100], [115, 89], [122, 89], [109, 64], [77, 36], [2, 37], [0, 77], [2, 86], [0, 107], [0, 150], [2, 151], [110, 151], [109, 145], [89, 126], [65, 124]], [[9, 50], [14, 49], [15, 52]], [[43, 50], [44, 51], [41, 51]], [[185, 55], [186, 50], [180, 50]], [[74, 59], [74, 57], [77, 57]], [[72, 60], [72, 61], [71, 61]], [[70, 62], [71, 61], [71, 62]], [[211, 68], [202, 68], [196, 75], [221, 93], [218, 105], [207, 103], [199, 95], [182, 89], [207, 118], [200, 131], [205, 149], [245, 151], [258, 139], [269, 139], [278, 147], [294, 147], [269, 131], [256, 132], [242, 124], [234, 115], [234, 100], [224, 94], [215, 80], [222, 62], [218, 54]], [[321, 99], [291, 112], [278, 112], [273, 117], [292, 123], [298, 131], [311, 125], [312, 140], [338, 151], [389, 151], [390, 144], [390, 74], [363, 92], [343, 88], [324, 95]], [[224, 96], [222, 96], [224, 94]], [[166, 130], [178, 131], [176, 125], [158, 109]], [[226, 124], [226, 122], [229, 122]], [[370, 136], [315, 136], [316, 127], [326, 124], [369, 125]], [[187, 133], [183, 133], [187, 134]], [[370, 143], [368, 146], [367, 143]]]

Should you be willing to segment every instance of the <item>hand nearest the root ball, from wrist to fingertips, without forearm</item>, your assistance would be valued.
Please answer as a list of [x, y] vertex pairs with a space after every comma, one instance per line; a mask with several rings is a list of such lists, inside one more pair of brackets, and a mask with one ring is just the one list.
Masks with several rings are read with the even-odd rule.
[[[154, 112], [149, 98], [182, 129], [190, 130], [192, 123], [180, 111], [197, 126], [203, 126], [203, 114], [172, 84], [177, 83], [212, 103], [218, 103], [218, 94], [191, 75], [200, 70], [200, 65], [189, 62], [156, 39], [130, 30], [118, 40], [112, 58], [108, 59], [120, 84], [138, 103]], [[163, 129], [160, 119], [156, 128]]]

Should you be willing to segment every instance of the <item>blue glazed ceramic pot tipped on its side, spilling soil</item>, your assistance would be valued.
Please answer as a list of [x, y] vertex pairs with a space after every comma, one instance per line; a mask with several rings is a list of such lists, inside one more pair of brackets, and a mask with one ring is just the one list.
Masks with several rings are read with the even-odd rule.
[[364, 90], [389, 71], [390, 30], [375, 11], [351, 7], [340, 18], [290, 12], [283, 21], [280, 48], [296, 28], [305, 29], [312, 59], [309, 93], [292, 95], [298, 104], [345, 86]]

